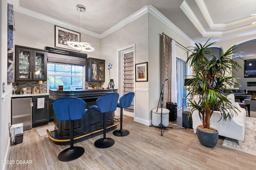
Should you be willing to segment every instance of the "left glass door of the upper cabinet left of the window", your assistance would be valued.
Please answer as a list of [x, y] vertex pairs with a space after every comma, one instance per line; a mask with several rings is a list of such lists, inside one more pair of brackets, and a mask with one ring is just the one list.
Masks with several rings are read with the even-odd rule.
[[16, 48], [16, 80], [32, 78], [32, 50]]

